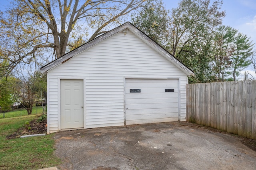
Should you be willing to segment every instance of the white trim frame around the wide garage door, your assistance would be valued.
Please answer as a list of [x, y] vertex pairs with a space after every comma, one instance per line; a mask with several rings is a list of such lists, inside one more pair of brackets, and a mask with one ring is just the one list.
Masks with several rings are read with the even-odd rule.
[[124, 125], [126, 124], [126, 79], [150, 79], [150, 80], [178, 80], [178, 121], [180, 121], [180, 78], [179, 77], [161, 77], [161, 78], [150, 78], [150, 77], [130, 77], [124, 76]]

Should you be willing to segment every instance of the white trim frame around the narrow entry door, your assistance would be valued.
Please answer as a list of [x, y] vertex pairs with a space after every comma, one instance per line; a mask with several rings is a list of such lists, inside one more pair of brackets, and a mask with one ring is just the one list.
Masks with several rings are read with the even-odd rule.
[[[61, 129], [61, 121], [60, 121], [60, 112], [61, 112], [61, 106], [60, 106], [60, 80], [83, 80], [83, 91], [84, 91], [84, 95], [83, 95], [83, 100], [84, 100], [84, 128], [82, 129], [86, 129], [86, 91], [85, 91], [85, 84], [86, 84], [86, 78], [85, 77], [80, 77], [80, 76], [70, 76], [70, 77], [58, 77], [58, 131], [60, 130], [70, 130], [70, 129]], [[81, 128], [78, 128], [81, 129]]]

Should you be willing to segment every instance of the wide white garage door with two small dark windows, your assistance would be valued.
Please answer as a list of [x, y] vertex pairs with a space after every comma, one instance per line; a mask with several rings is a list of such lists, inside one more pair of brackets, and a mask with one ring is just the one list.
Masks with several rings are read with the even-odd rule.
[[178, 80], [126, 79], [126, 125], [178, 121]]

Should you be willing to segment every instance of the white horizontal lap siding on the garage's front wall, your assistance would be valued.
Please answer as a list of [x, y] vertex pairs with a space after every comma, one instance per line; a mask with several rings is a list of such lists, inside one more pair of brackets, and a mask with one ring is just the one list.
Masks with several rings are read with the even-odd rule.
[[50, 133], [59, 129], [59, 81], [84, 78], [85, 127], [124, 125], [124, 79], [175, 78], [180, 84], [180, 119], [186, 116], [187, 76], [130, 31], [120, 32], [48, 72]]

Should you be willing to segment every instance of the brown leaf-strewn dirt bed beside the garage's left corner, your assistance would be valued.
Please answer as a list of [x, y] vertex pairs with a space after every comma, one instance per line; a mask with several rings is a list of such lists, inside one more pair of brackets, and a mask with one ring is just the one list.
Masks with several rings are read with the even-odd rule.
[[19, 138], [22, 135], [34, 135], [34, 134], [47, 133], [47, 119], [45, 119], [41, 123], [39, 123], [37, 119], [38, 117], [30, 121], [29, 123], [24, 124], [24, 126], [19, 128], [16, 132], [12, 133], [11, 135], [7, 135], [6, 139]]

